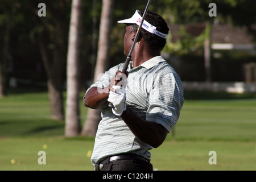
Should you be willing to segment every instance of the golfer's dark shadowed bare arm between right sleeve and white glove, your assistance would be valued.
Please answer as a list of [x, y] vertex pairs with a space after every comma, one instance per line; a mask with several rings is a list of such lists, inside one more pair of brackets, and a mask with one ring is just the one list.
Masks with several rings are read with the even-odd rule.
[[121, 117], [135, 137], [138, 137], [142, 142], [150, 144], [154, 148], [159, 147], [164, 142], [164, 139], [166, 139], [168, 131], [165, 127], [156, 122], [144, 121], [129, 107], [123, 111]]

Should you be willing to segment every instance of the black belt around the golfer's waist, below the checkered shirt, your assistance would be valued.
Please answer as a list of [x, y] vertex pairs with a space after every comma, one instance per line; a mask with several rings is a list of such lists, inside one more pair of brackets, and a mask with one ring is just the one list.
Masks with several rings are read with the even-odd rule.
[[120, 155], [114, 155], [110, 156], [109, 158], [106, 158], [102, 160], [99, 164], [96, 164], [96, 171], [100, 170], [105, 164], [108, 164], [110, 162], [114, 162], [117, 160], [143, 160], [145, 162], [150, 163], [150, 160], [143, 158], [142, 156], [136, 155], [136, 154], [120, 154]]

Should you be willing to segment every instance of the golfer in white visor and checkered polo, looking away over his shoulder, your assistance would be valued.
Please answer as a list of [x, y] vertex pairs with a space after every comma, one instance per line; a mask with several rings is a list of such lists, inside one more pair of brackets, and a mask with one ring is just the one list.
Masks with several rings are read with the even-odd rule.
[[[118, 23], [126, 24], [127, 56], [143, 12]], [[106, 71], [84, 96], [84, 105], [101, 108], [92, 153], [94, 170], [152, 170], [152, 148], [164, 142], [183, 106], [183, 86], [174, 68], [160, 56], [169, 28], [162, 16], [148, 11], [126, 74], [124, 63]], [[109, 107], [109, 102], [114, 107]]]

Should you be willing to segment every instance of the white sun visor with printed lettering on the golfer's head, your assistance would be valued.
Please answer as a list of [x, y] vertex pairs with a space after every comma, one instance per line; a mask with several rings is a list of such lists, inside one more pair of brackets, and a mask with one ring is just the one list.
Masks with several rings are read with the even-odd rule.
[[[129, 19], [120, 20], [117, 23], [129, 23], [129, 24], [141, 24], [142, 16], [139, 15], [139, 10], [136, 10], [134, 15]], [[152, 24], [148, 23], [146, 20], [143, 21], [142, 28], [150, 32], [151, 34], [155, 34], [160, 36], [161, 38], [167, 39], [168, 34], [163, 34], [162, 32], [159, 32], [156, 30], [155, 26], [152, 26]]]

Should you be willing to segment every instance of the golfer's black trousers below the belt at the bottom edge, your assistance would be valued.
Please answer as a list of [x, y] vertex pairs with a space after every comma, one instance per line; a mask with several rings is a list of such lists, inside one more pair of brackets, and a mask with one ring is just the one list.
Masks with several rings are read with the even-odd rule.
[[115, 160], [105, 164], [101, 171], [153, 171], [152, 164], [143, 160]]

